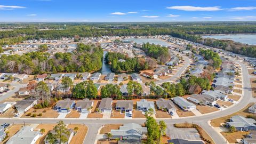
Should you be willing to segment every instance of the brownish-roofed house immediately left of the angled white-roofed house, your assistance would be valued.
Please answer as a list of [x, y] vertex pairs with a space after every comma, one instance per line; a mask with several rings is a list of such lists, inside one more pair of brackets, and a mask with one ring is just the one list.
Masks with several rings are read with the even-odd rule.
[[166, 109], [169, 113], [174, 113], [176, 111], [176, 108], [174, 106], [174, 103], [171, 100], [165, 100], [163, 98], [160, 98], [156, 101], [156, 106], [158, 109], [164, 110]]

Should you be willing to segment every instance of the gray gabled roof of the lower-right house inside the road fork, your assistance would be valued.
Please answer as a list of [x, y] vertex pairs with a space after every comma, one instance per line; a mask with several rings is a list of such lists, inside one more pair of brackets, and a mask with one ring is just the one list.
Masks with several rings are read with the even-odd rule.
[[245, 118], [243, 116], [233, 116], [230, 118], [230, 122], [227, 122], [230, 126], [235, 126], [235, 127], [248, 127], [248, 126], [254, 126], [256, 121], [252, 118]]

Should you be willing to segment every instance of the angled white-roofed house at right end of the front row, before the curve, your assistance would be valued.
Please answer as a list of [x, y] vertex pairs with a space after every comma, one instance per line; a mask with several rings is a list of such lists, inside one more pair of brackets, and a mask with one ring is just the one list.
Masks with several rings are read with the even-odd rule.
[[190, 111], [190, 110], [194, 110], [196, 109], [196, 105], [194, 105], [191, 102], [188, 102], [187, 100], [185, 100], [182, 97], [174, 97], [172, 98], [173, 102], [176, 103], [176, 105], [178, 105], [181, 109], [185, 110], [185, 111]]

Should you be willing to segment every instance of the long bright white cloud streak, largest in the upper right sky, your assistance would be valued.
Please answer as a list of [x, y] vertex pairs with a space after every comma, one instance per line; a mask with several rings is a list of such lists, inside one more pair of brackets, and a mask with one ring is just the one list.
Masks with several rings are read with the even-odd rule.
[[182, 11], [220, 11], [220, 6], [208, 6], [208, 7], [199, 7], [199, 6], [170, 6], [166, 7], [167, 9], [173, 10], [182, 10]]

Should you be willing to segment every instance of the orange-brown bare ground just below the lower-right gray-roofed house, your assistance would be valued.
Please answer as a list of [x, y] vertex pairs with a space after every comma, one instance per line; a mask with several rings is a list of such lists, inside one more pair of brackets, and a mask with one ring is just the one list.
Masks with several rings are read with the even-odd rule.
[[223, 137], [225, 137], [229, 143], [237, 143], [236, 139], [246, 138], [246, 134], [250, 132], [237, 131], [237, 132], [221, 132]]

